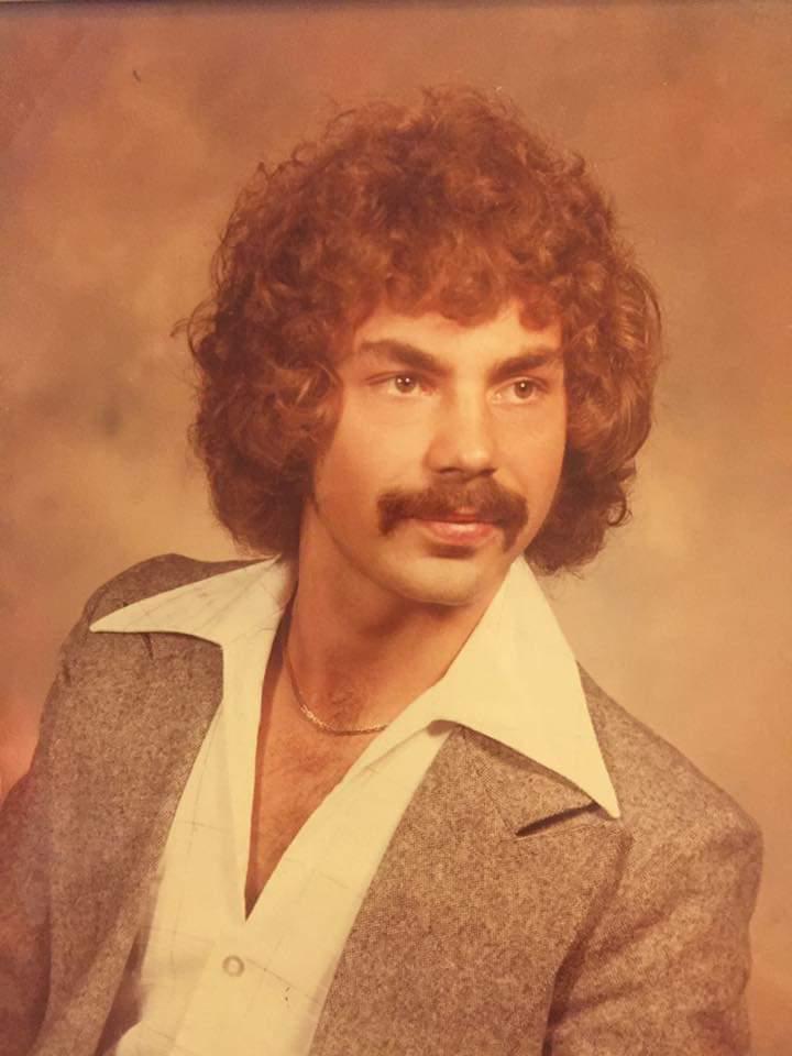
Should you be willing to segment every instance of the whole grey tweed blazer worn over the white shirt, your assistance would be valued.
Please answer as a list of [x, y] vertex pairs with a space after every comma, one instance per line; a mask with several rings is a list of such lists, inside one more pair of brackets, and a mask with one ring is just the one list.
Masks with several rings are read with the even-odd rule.
[[[232, 566], [130, 569], [64, 647], [33, 766], [0, 814], [3, 1056], [111, 1047], [146, 879], [220, 700], [216, 646], [88, 625]], [[758, 831], [583, 679], [623, 817], [458, 728], [369, 890], [311, 1056], [749, 1052]]]

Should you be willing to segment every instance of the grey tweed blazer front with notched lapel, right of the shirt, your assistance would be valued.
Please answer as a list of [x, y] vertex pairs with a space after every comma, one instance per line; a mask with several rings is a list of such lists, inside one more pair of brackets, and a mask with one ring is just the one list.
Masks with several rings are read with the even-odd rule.
[[554, 977], [624, 848], [575, 785], [458, 728], [369, 890], [311, 1056], [539, 1052]]

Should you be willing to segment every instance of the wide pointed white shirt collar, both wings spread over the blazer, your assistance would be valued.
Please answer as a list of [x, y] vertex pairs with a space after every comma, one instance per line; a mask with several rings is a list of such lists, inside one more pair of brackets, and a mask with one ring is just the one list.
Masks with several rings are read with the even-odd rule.
[[[94, 631], [170, 631], [221, 647], [277, 627], [295, 584], [293, 566], [264, 561], [143, 598], [102, 617]], [[433, 686], [375, 738], [358, 770], [431, 723], [475, 730], [553, 771], [619, 816], [578, 664], [522, 560]]]

